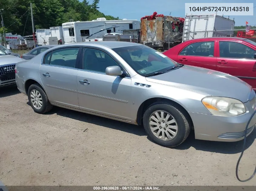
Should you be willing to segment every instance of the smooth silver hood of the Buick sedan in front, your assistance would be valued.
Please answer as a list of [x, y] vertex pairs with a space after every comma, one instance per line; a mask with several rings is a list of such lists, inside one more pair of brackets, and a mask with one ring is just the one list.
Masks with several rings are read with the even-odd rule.
[[212, 96], [231, 97], [243, 103], [248, 101], [251, 94], [251, 86], [237, 77], [188, 65], [161, 75], [146, 77], [146, 80]]

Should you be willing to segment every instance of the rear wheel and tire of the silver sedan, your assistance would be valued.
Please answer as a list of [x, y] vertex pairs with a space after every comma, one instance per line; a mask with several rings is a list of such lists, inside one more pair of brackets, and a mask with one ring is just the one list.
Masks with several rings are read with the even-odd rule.
[[[35, 94], [35, 92], [39, 92], [41, 97], [38, 96], [37, 100], [38, 100], [38, 102], [40, 101], [40, 103], [35, 104], [35, 106], [34, 106], [31, 98], [33, 99], [33, 94]], [[52, 107], [53, 107], [52, 104], [50, 103], [50, 101], [48, 100], [48, 97], [45, 94], [45, 91], [42, 89], [42, 87], [39, 84], [32, 84], [28, 88], [28, 102], [30, 103], [30, 106], [32, 107], [32, 109], [36, 113], [40, 113], [40, 114], [49, 112], [50, 110], [52, 110]], [[42, 104], [42, 106], [40, 104]], [[41, 107], [39, 107], [39, 106], [41, 106]]]

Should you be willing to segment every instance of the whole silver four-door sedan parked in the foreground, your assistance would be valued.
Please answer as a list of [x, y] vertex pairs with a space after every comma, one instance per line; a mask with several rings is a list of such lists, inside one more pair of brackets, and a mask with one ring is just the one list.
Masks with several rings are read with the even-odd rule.
[[[231, 75], [178, 64], [128, 42], [72, 43], [16, 65], [19, 91], [37, 113], [53, 106], [143, 125], [156, 143], [238, 141], [255, 109], [251, 86]], [[256, 123], [251, 120], [249, 135]]]

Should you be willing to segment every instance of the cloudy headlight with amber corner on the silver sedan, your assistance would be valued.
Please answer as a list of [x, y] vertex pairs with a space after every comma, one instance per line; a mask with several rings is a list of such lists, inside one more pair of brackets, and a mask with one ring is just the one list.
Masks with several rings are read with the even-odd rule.
[[241, 101], [229, 97], [204, 97], [202, 103], [213, 115], [237, 116], [246, 112]]

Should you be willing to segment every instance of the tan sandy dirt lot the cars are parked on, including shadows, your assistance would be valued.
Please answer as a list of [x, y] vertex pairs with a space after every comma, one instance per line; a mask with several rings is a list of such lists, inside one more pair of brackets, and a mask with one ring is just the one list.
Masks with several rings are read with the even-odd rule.
[[[254, 129], [242, 178], [255, 168], [255, 138]], [[141, 126], [58, 107], [37, 114], [16, 87], [0, 89], [0, 140], [5, 185], [256, 185], [256, 177], [235, 177], [242, 142], [195, 140], [192, 132], [165, 148]]]

